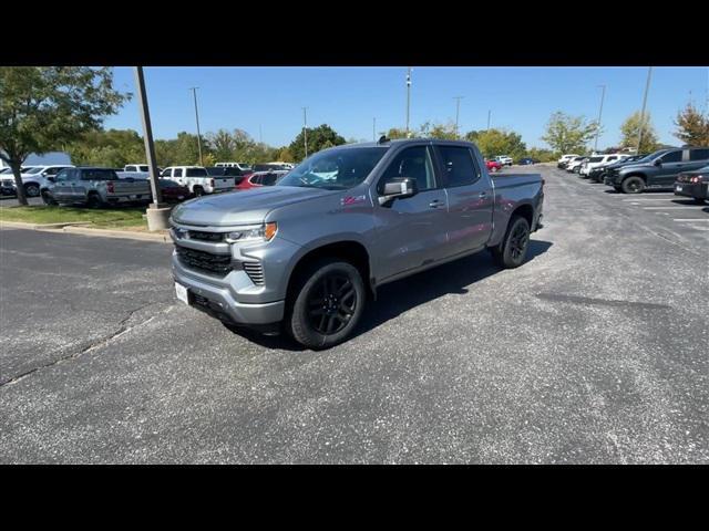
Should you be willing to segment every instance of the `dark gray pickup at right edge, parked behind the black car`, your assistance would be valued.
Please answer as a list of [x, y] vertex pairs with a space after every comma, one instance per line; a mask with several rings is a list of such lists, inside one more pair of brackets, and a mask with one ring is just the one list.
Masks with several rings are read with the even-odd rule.
[[708, 164], [709, 147], [660, 149], [634, 164], [609, 170], [605, 183], [624, 194], [640, 194], [647, 189], [672, 190], [679, 174]]

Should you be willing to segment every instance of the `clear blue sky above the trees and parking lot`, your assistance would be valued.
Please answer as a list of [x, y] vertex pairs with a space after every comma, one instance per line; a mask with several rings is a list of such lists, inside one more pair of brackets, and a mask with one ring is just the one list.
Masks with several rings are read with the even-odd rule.
[[[346, 138], [371, 139], [377, 132], [405, 123], [405, 66], [402, 67], [145, 67], [145, 83], [155, 138], [195, 133], [191, 86], [198, 86], [202, 133], [240, 128], [255, 139], [281, 146], [302, 127], [331, 125]], [[133, 69], [114, 72], [116, 88], [135, 93]], [[544, 147], [540, 138], [554, 111], [598, 115], [602, 90], [605, 132], [599, 147], [619, 140], [623, 121], [643, 104], [647, 67], [439, 67], [413, 66], [411, 124], [455, 119], [454, 96], [461, 100], [461, 132], [492, 127], [516, 131], [528, 147]], [[692, 98], [702, 108], [709, 92], [709, 67], [655, 67], [647, 108], [660, 142], [672, 136], [677, 111]], [[142, 133], [135, 98], [105, 127]]]

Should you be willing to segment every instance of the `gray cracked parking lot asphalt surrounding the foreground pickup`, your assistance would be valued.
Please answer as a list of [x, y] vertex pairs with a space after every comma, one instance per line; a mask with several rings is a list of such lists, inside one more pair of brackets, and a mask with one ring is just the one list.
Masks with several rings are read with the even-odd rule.
[[387, 285], [323, 352], [178, 303], [167, 244], [0, 230], [0, 462], [709, 462], [708, 207], [513, 171], [527, 263]]

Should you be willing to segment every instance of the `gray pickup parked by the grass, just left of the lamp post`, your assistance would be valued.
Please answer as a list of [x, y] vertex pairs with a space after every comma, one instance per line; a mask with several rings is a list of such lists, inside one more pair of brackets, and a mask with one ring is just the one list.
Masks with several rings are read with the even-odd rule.
[[81, 204], [90, 208], [123, 202], [150, 202], [150, 183], [144, 179], [119, 178], [113, 168], [64, 168], [48, 178], [41, 190], [45, 205]]

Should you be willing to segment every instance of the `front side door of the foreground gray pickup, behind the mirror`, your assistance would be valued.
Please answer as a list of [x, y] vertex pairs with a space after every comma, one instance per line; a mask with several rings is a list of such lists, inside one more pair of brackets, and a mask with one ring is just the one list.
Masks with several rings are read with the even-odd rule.
[[[380, 206], [384, 184], [409, 177], [419, 192]], [[374, 196], [377, 277], [384, 280], [418, 269], [445, 254], [448, 204], [435, 175], [430, 145], [408, 147], [389, 164], [372, 190]]]

